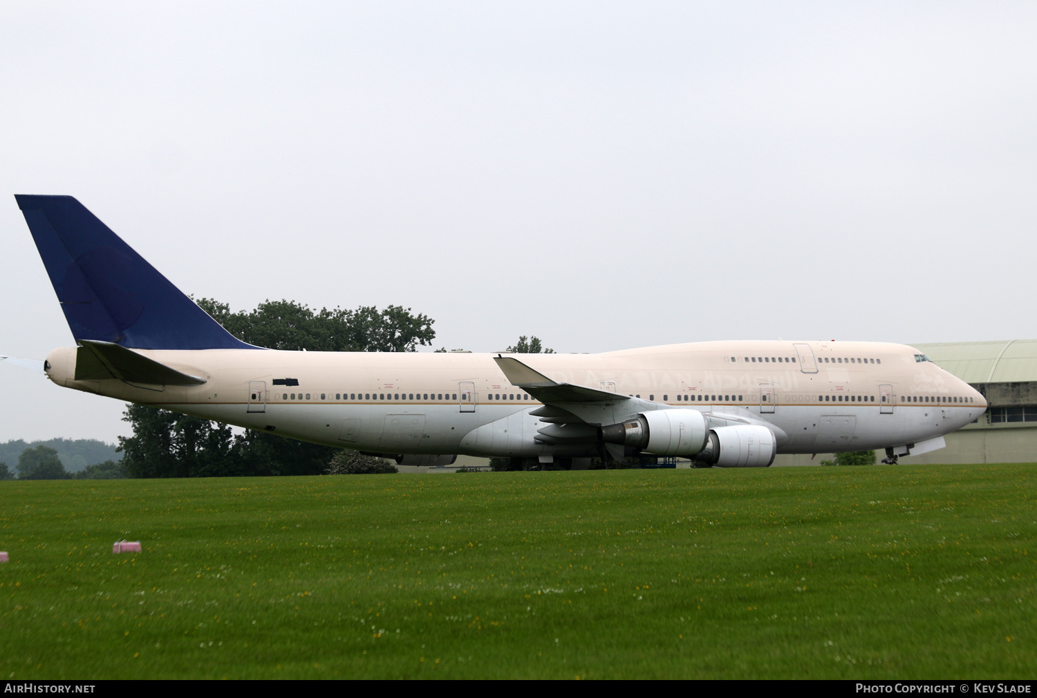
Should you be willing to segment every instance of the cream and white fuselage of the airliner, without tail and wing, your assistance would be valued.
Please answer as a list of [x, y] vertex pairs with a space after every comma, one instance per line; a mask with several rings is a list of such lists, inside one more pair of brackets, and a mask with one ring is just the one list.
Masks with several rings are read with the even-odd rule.
[[[48, 357], [60, 385], [314, 443], [391, 454], [583, 456], [544, 443], [541, 403], [511, 385], [498, 354], [139, 351], [197, 386], [77, 381], [75, 349]], [[558, 382], [636, 396], [658, 408], [773, 425], [778, 452], [884, 448], [975, 420], [982, 396], [910, 347], [872, 342], [703, 342], [600, 354], [525, 354]], [[614, 418], [624, 416], [623, 401]], [[628, 412], [629, 410], [627, 410]]]

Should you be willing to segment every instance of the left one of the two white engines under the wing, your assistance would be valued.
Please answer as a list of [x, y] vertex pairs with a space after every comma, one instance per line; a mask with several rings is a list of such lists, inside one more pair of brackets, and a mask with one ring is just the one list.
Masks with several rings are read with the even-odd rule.
[[601, 427], [606, 443], [634, 446], [658, 456], [690, 456], [706, 446], [709, 425], [692, 409], [654, 410], [618, 425]]

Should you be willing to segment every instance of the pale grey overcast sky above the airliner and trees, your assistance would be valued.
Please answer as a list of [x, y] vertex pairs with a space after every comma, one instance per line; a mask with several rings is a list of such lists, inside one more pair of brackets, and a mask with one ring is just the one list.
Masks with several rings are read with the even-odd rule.
[[[73, 344], [13, 194], [437, 348], [1037, 337], [1035, 37], [1033, 2], [0, 2], [0, 353]], [[129, 434], [0, 386], [0, 440]]]

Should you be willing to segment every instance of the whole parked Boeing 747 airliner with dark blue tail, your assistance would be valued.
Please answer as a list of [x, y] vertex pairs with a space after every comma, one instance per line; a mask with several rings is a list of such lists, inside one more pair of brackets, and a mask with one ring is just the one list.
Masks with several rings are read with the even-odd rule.
[[449, 463], [609, 454], [768, 466], [944, 445], [983, 397], [912, 347], [698, 342], [600, 354], [275, 351], [228, 333], [72, 197], [17, 196], [77, 346], [48, 377], [247, 429]]

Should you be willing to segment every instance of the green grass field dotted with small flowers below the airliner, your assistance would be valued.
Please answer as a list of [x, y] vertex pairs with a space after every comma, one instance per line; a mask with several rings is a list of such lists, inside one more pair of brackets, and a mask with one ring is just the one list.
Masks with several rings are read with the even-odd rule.
[[1035, 465], [4, 482], [0, 678], [1033, 678], [1035, 486]]

